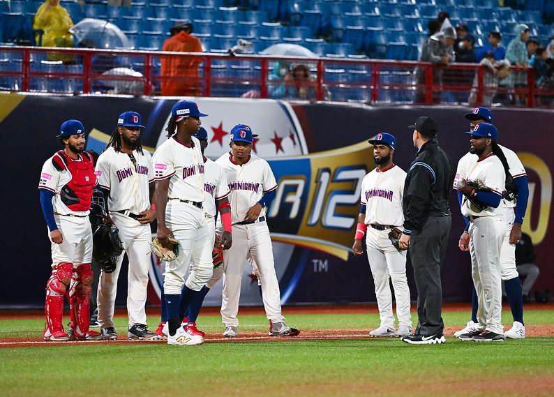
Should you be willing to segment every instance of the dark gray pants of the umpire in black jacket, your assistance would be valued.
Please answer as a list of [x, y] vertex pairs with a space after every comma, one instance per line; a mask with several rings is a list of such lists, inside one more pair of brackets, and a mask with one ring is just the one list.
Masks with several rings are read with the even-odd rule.
[[416, 335], [431, 336], [442, 332], [442, 285], [440, 268], [447, 250], [450, 216], [424, 219], [421, 231], [410, 237], [410, 258], [417, 287]]

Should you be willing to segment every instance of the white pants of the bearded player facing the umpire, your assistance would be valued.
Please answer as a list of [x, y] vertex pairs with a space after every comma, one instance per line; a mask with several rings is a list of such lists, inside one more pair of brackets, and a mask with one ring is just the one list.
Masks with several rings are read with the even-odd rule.
[[410, 288], [406, 278], [406, 250], [398, 251], [389, 239], [389, 231], [375, 230], [368, 226], [366, 248], [369, 267], [375, 283], [375, 297], [382, 327], [394, 329], [392, 295], [389, 278], [392, 280], [396, 299], [398, 325], [412, 327], [410, 313]]

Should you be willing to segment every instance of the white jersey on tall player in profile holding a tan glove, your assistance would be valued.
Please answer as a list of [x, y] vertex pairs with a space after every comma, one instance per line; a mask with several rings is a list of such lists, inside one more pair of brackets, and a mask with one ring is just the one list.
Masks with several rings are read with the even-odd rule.
[[169, 199], [204, 201], [204, 157], [200, 141], [192, 140], [190, 147], [172, 136], [154, 152], [154, 179], [170, 178]]

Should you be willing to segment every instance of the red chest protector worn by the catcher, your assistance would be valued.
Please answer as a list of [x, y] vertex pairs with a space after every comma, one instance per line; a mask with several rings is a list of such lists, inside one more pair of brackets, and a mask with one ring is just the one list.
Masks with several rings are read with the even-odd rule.
[[68, 170], [71, 180], [61, 188], [61, 202], [71, 211], [88, 211], [91, 207], [92, 190], [96, 186], [96, 175], [92, 157], [84, 151], [79, 160], [73, 160], [65, 151], [58, 151], [52, 158], [57, 170]]

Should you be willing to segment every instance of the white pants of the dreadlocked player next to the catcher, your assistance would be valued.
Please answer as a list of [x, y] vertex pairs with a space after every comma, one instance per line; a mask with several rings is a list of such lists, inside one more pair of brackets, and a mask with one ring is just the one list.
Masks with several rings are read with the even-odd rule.
[[144, 306], [147, 301], [148, 269], [150, 267], [150, 225], [142, 225], [138, 220], [110, 213], [117, 229], [119, 239], [125, 250], [117, 258], [115, 271], [102, 272], [98, 282], [98, 322], [100, 327], [115, 327], [113, 322], [115, 298], [117, 294], [117, 279], [121, 271], [123, 256], [127, 253], [129, 270], [127, 276], [127, 314], [129, 327], [134, 324], [147, 324]]

